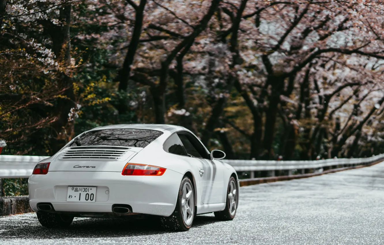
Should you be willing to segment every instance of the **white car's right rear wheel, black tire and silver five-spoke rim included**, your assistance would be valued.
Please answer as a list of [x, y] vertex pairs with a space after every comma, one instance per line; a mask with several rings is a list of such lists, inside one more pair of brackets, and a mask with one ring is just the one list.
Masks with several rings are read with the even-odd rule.
[[161, 223], [167, 230], [187, 231], [191, 228], [195, 214], [195, 193], [187, 176], [181, 181], [176, 207], [169, 217], [162, 217]]

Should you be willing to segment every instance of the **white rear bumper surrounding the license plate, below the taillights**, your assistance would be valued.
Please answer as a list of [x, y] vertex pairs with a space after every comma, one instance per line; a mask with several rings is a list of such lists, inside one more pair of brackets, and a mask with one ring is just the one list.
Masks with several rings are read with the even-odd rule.
[[[121, 172], [48, 172], [31, 175], [31, 208], [50, 202], [55, 211], [112, 212], [113, 204], [128, 204], [132, 212], [169, 216], [175, 209], [183, 175], [167, 169], [162, 176], [123, 176]], [[97, 187], [95, 202], [67, 202], [68, 185]]]

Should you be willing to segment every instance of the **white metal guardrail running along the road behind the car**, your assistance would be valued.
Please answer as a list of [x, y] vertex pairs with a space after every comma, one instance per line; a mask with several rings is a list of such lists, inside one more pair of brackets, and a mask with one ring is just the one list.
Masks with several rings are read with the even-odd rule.
[[[48, 156], [10, 156], [0, 155], [0, 179], [5, 178], [28, 178], [36, 164], [48, 158]], [[255, 176], [255, 171], [272, 171], [270, 176], [275, 175], [275, 171], [285, 170], [288, 175], [293, 170], [301, 170], [300, 174], [304, 174], [304, 169], [323, 169], [326, 167], [351, 167], [358, 165], [368, 165], [373, 162], [384, 161], [384, 154], [367, 158], [340, 158], [325, 159], [317, 161], [260, 161], [260, 160], [227, 160], [237, 172], [250, 171], [250, 178]]]

